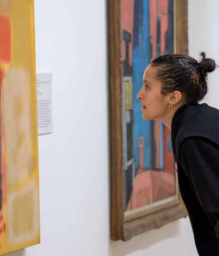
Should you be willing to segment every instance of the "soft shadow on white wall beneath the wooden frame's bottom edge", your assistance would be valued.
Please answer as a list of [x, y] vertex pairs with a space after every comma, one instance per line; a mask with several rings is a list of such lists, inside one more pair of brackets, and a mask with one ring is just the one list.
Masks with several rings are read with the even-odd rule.
[[126, 256], [132, 252], [148, 249], [167, 238], [180, 236], [179, 221], [132, 237], [129, 241], [109, 241], [109, 256]]

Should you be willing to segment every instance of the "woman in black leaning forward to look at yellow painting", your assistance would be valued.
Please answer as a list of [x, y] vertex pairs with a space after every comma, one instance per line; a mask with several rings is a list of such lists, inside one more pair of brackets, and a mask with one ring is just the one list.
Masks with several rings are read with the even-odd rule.
[[171, 130], [180, 193], [200, 256], [219, 256], [219, 110], [198, 104], [208, 91], [215, 61], [180, 54], [153, 60], [143, 76], [145, 120], [160, 119]]

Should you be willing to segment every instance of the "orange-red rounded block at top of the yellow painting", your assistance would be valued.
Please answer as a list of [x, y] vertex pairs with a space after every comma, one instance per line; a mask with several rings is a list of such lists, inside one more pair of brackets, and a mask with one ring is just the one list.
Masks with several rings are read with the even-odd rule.
[[0, 14], [0, 62], [11, 61], [11, 22], [8, 17]]

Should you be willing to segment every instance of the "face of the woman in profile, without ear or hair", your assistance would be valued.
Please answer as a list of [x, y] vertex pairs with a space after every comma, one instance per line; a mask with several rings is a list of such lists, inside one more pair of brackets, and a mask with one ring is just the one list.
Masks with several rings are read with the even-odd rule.
[[157, 68], [148, 65], [143, 76], [143, 87], [137, 95], [141, 101], [142, 116], [145, 120], [162, 120], [169, 109], [170, 97], [161, 94], [162, 83], [155, 79], [156, 71]]

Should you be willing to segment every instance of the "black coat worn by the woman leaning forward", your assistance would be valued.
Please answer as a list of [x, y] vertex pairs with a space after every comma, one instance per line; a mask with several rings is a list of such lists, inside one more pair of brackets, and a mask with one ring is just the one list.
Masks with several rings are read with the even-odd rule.
[[171, 124], [179, 188], [200, 256], [219, 256], [219, 110], [184, 105]]

